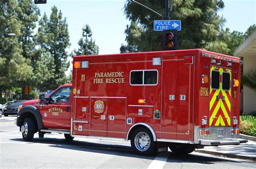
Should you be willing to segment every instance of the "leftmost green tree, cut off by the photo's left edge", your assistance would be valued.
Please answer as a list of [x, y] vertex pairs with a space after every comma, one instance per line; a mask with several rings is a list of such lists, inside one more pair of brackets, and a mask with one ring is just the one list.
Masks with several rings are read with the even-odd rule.
[[[22, 55], [22, 45], [18, 39], [21, 36], [22, 22], [17, 17], [17, 12], [22, 9], [15, 0], [0, 2], [0, 96], [2, 90], [11, 87], [20, 87], [32, 77], [30, 59]], [[15, 33], [16, 37], [5, 36]]]

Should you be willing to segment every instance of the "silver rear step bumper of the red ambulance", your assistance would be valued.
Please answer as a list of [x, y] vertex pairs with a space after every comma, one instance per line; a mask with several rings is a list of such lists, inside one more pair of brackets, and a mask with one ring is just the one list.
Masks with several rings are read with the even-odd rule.
[[211, 146], [218, 146], [218, 145], [239, 145], [241, 143], [247, 143], [247, 139], [241, 138], [234, 138], [234, 139], [222, 139], [222, 140], [205, 140], [199, 139], [200, 145], [211, 145]]

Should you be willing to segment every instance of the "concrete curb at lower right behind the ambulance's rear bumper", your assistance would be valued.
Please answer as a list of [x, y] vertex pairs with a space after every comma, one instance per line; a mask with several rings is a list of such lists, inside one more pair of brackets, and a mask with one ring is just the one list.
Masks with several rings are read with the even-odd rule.
[[221, 156], [221, 157], [227, 157], [227, 158], [238, 158], [238, 159], [242, 159], [242, 160], [256, 161], [256, 157], [240, 156], [240, 155], [237, 155], [237, 154], [227, 154], [227, 153], [221, 153], [221, 152], [215, 152], [215, 151], [207, 151], [207, 150], [195, 150], [195, 152], [212, 154], [212, 155]]

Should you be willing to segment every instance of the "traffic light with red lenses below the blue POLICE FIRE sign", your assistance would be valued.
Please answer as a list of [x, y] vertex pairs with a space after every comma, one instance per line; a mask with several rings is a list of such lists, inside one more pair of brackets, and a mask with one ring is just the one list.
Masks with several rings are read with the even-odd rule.
[[164, 50], [178, 50], [178, 31], [164, 30], [163, 31], [163, 45]]

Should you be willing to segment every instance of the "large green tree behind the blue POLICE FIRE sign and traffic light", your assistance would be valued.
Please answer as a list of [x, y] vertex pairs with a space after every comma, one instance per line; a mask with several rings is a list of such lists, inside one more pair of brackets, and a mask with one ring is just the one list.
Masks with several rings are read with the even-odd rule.
[[[149, 8], [165, 13], [165, 1], [138, 1]], [[178, 32], [178, 48], [204, 48], [214, 52], [227, 53], [227, 30], [221, 29], [225, 22], [217, 12], [224, 8], [221, 0], [170, 1], [170, 18], [179, 19], [182, 30]], [[153, 31], [153, 21], [159, 18], [142, 6], [126, 1], [124, 6], [126, 17], [131, 20], [125, 30], [127, 46], [122, 45], [120, 52], [160, 51], [163, 50], [162, 32]]]

